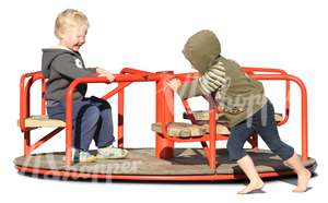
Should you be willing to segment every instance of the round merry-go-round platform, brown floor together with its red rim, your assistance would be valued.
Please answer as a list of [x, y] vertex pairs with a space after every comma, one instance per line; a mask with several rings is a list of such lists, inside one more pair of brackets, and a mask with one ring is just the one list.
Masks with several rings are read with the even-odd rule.
[[[160, 159], [154, 148], [130, 148], [126, 159], [106, 159], [95, 163], [74, 163], [67, 166], [65, 153], [33, 154], [17, 157], [14, 164], [19, 171], [45, 176], [82, 179], [119, 179], [147, 181], [198, 181], [236, 180], [245, 175], [235, 162], [227, 159], [225, 148], [216, 151], [219, 166], [211, 170], [201, 148], [176, 148], [174, 158]], [[96, 153], [95, 151], [92, 152]], [[262, 178], [293, 176], [293, 170], [278, 156], [267, 150], [247, 150]], [[314, 158], [303, 162], [314, 171], [317, 163]]]

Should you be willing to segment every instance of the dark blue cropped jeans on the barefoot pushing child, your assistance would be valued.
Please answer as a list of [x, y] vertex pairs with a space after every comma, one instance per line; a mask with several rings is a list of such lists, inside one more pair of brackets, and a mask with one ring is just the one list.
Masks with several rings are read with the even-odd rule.
[[294, 154], [294, 148], [280, 140], [274, 121], [274, 108], [269, 99], [259, 111], [231, 129], [226, 144], [231, 160], [238, 160], [246, 155], [244, 144], [253, 132], [258, 133], [269, 148], [283, 160]]

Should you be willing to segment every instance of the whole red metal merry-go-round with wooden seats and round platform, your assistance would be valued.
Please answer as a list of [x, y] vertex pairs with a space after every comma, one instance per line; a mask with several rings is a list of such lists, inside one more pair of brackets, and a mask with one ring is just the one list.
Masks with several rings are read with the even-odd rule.
[[[290, 84], [295, 83], [301, 89], [301, 143], [300, 156], [306, 168], [314, 171], [317, 163], [308, 156], [307, 129], [307, 93], [304, 83], [294, 75], [280, 69], [243, 68], [245, 72], [257, 80], [280, 81], [285, 84], [284, 112], [276, 114], [278, 126], [288, 124], [290, 116]], [[19, 127], [24, 134], [24, 156], [14, 159], [15, 167], [23, 174], [52, 176], [61, 178], [110, 179], [110, 180], [141, 180], [141, 181], [208, 181], [236, 180], [246, 178], [236, 163], [227, 159], [225, 147], [218, 147], [216, 141], [227, 140], [230, 130], [225, 121], [221, 120], [218, 107], [209, 103], [209, 108], [202, 111], [192, 111], [187, 99], [181, 100], [185, 107], [186, 122], [175, 122], [174, 93], [166, 88], [167, 81], [177, 77], [184, 83], [199, 77], [199, 73], [175, 74], [173, 71], [147, 72], [125, 68], [115, 74], [117, 83], [103, 96], [109, 99], [118, 95], [118, 127], [117, 144], [125, 147], [124, 134], [125, 88], [137, 82], [155, 83], [155, 112], [156, 120], [150, 127], [154, 131], [155, 146], [150, 148], [128, 148], [129, 156], [125, 159], [97, 160], [95, 163], [73, 163], [72, 160], [72, 95], [74, 88], [82, 83], [109, 83], [106, 77], [80, 77], [74, 80], [67, 92], [66, 121], [49, 119], [46, 115], [46, 79], [42, 72], [26, 73], [21, 76], [20, 83], [20, 119]], [[42, 84], [40, 115], [31, 112], [31, 88], [36, 81]], [[151, 99], [151, 98], [149, 98]], [[40, 140], [32, 143], [31, 133], [40, 128], [54, 130]], [[33, 153], [48, 140], [65, 130], [66, 151], [50, 153]], [[126, 136], [126, 138], [125, 138]], [[284, 136], [284, 135], [283, 135]], [[295, 136], [295, 134], [293, 134]], [[199, 148], [175, 148], [175, 143], [200, 143]], [[281, 177], [295, 175], [282, 159], [268, 150], [258, 146], [258, 135], [251, 134], [248, 140], [251, 147], [247, 153], [253, 157], [260, 177]], [[92, 152], [93, 153], [93, 152]]]

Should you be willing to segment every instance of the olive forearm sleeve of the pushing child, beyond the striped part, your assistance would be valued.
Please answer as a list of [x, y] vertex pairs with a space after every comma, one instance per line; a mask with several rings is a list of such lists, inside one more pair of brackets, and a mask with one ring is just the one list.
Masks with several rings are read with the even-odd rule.
[[190, 83], [183, 84], [177, 89], [177, 94], [181, 97], [181, 99], [201, 96], [202, 93], [200, 91], [198, 79], [194, 79]]

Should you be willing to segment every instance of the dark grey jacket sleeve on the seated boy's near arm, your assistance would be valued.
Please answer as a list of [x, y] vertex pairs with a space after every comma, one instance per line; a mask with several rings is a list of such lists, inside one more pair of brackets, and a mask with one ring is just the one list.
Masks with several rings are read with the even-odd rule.
[[81, 59], [70, 55], [59, 56], [54, 60], [51, 65], [60, 74], [70, 79], [78, 79], [81, 76], [97, 76], [93, 70], [85, 69]]

